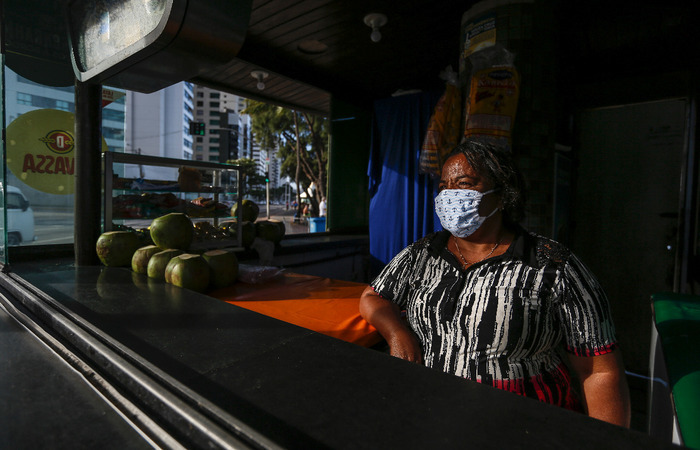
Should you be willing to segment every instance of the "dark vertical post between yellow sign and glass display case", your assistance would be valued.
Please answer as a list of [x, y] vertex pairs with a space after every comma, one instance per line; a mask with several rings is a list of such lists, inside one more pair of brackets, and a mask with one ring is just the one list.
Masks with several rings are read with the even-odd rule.
[[75, 251], [76, 266], [99, 264], [102, 186], [102, 85], [75, 83]]

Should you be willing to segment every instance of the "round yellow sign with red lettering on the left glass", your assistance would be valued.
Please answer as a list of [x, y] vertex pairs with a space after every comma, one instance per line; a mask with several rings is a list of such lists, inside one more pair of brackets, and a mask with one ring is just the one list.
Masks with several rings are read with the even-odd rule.
[[[7, 126], [7, 167], [28, 186], [48, 194], [75, 192], [75, 116], [37, 109]], [[107, 143], [102, 139], [102, 151]]]

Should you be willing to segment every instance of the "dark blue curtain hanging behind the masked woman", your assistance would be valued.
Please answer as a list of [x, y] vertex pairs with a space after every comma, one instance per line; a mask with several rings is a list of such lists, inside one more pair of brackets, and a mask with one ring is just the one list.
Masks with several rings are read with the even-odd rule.
[[418, 173], [430, 116], [441, 93], [426, 92], [374, 104], [369, 161], [369, 246], [374, 277], [411, 242], [439, 230], [437, 183]]

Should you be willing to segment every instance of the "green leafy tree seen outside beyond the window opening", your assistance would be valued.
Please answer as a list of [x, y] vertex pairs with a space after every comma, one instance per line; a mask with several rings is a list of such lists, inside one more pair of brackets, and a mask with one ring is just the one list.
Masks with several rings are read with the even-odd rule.
[[277, 149], [282, 175], [294, 178], [299, 212], [304, 190], [318, 215], [320, 198], [326, 197], [328, 119], [254, 100], [246, 100], [242, 113], [251, 117], [253, 138], [260, 148]]

